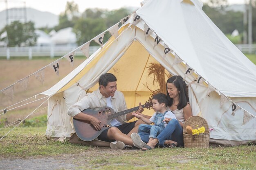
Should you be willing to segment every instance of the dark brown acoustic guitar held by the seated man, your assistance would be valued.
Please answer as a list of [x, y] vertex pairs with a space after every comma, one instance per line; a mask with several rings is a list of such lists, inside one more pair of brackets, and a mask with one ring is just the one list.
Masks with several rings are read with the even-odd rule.
[[[150, 108], [152, 107], [151, 102], [146, 102], [144, 105], [141, 105], [143, 108]], [[112, 127], [110, 121], [118, 116], [125, 115], [127, 113], [131, 113], [132, 111], [137, 111], [139, 106], [133, 107], [128, 110], [120, 111], [115, 113], [115, 111], [111, 107], [102, 107], [99, 110], [92, 110], [92, 109], [85, 109], [82, 113], [93, 116], [101, 121], [101, 130], [97, 131], [94, 129], [94, 126], [90, 124], [89, 121], [79, 120], [73, 118], [73, 124], [76, 131], [76, 135], [82, 139], [83, 141], [92, 141], [96, 139], [102, 131], [105, 129], [109, 129]]]

